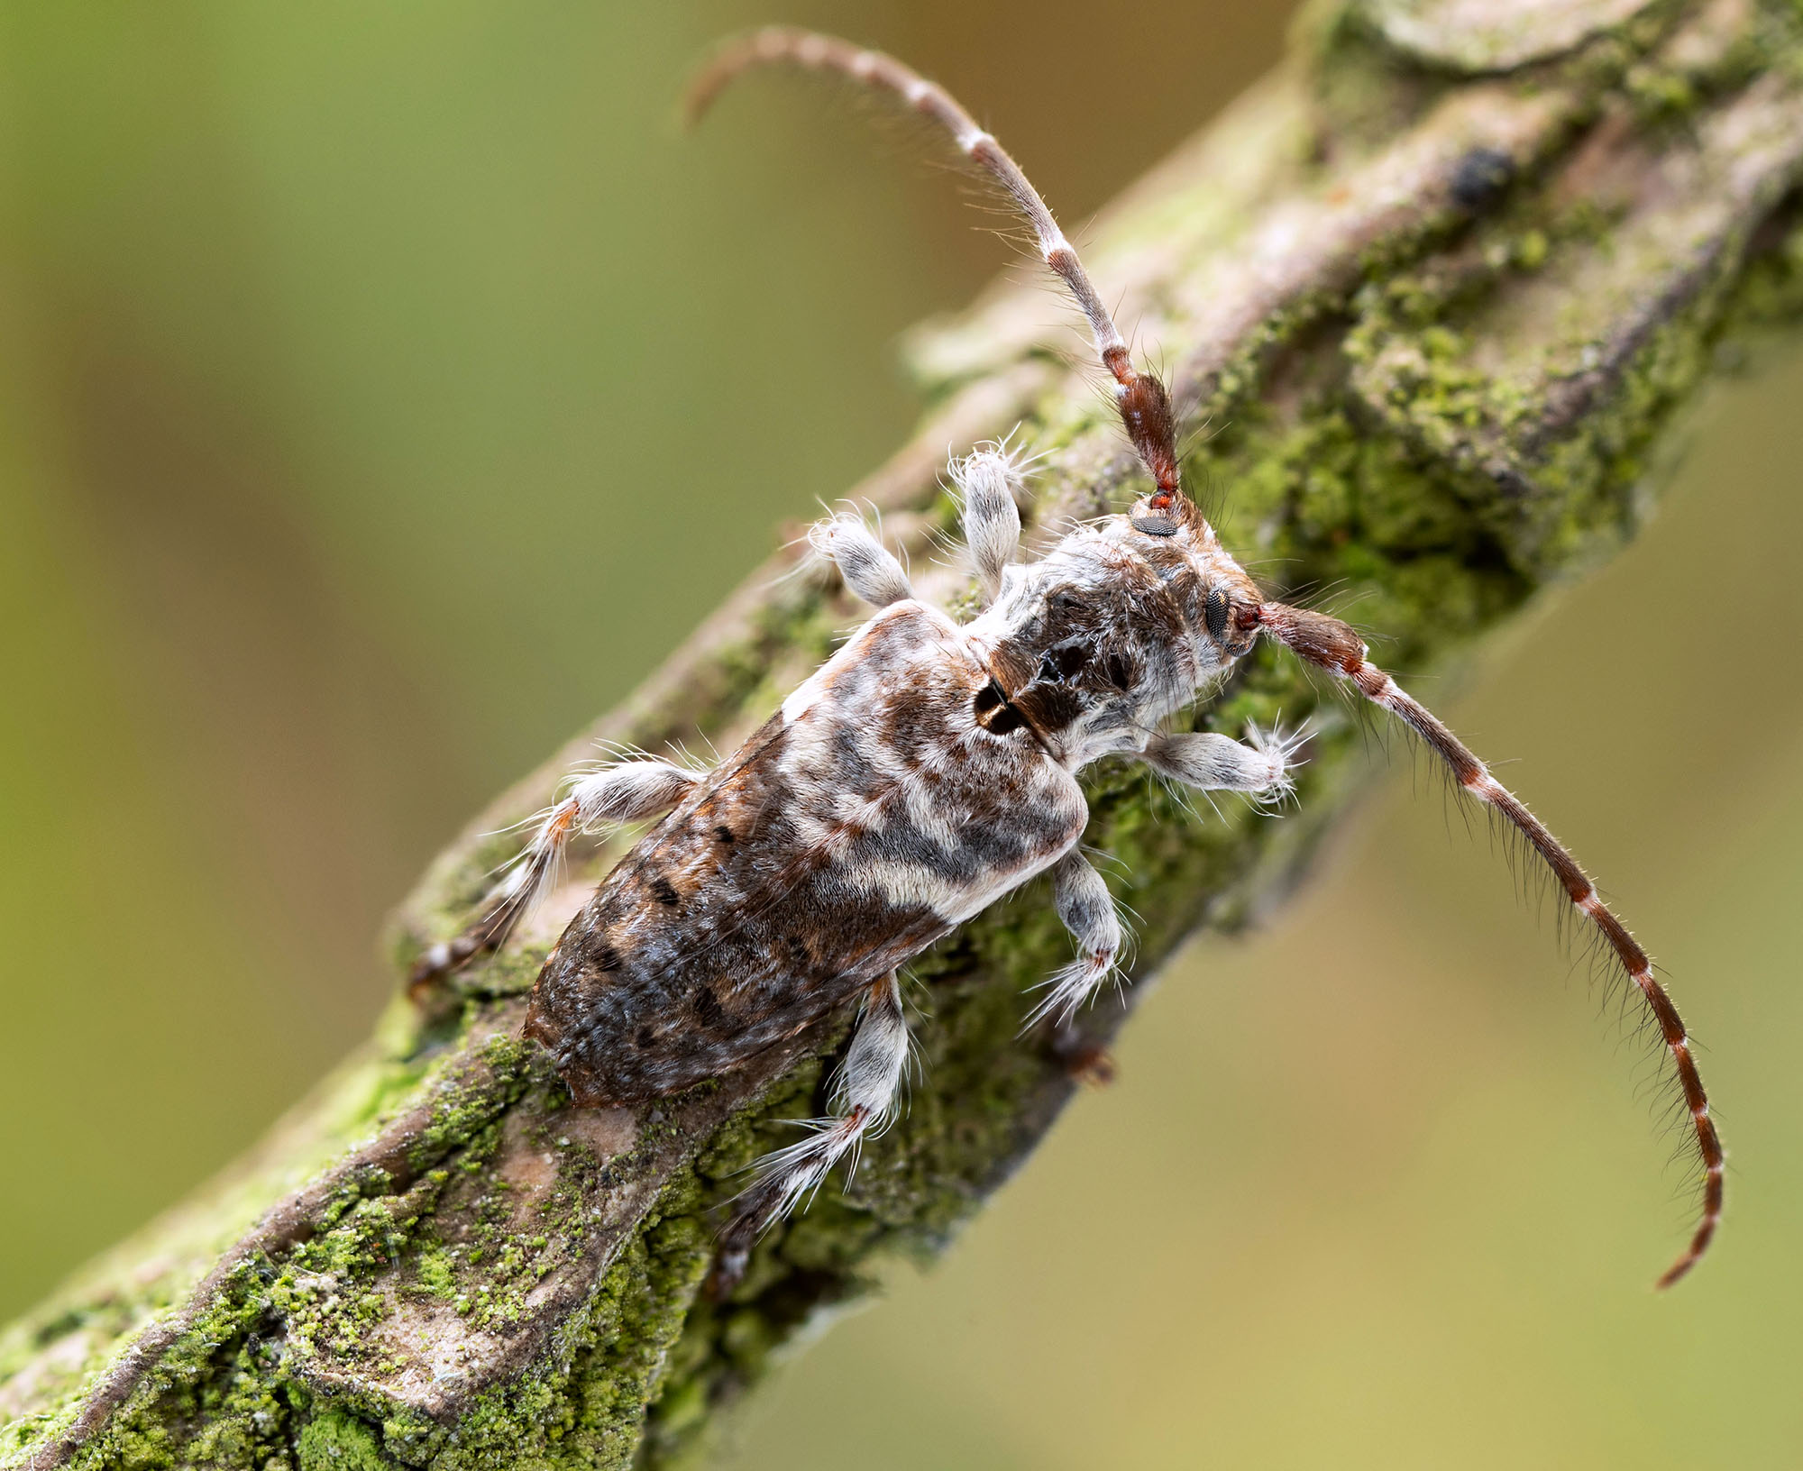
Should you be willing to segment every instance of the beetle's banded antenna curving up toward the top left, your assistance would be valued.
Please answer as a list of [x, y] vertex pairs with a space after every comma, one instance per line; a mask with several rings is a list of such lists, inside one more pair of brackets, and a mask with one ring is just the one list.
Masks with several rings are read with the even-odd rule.
[[965, 112], [939, 83], [929, 81], [892, 56], [842, 41], [838, 36], [824, 36], [819, 31], [790, 25], [768, 25], [721, 45], [689, 87], [685, 108], [689, 121], [696, 123], [736, 76], [752, 67], [775, 63], [837, 72], [865, 87], [896, 94], [911, 108], [945, 128], [959, 150], [988, 169], [995, 182], [1008, 191], [1015, 209], [1033, 229], [1040, 258], [1069, 287], [1076, 305], [1089, 319], [1102, 364], [1114, 375], [1114, 402], [1120, 407], [1121, 424], [1127, 425], [1127, 438], [1132, 440], [1158, 485], [1150, 508], [1167, 510], [1183, 494], [1177, 485], [1177, 425], [1170, 411], [1170, 395], [1156, 373], [1141, 373], [1132, 366], [1127, 343], [1121, 339], [1120, 328], [1114, 326], [1109, 308], [1102, 305], [1075, 247], [1064, 238], [1064, 231], [1058, 229], [1046, 200], [1028, 182], [1008, 150], [977, 126], [977, 119]]

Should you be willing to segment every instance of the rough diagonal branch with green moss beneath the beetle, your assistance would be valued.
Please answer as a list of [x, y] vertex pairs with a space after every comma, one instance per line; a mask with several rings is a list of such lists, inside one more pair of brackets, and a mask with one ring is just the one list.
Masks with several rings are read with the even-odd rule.
[[[1644, 517], [1675, 415], [1734, 343], [1803, 315], [1803, 13], [1771, 0], [1363, 0], [1094, 229], [1159, 344], [1192, 481], [1280, 597], [1340, 588], [1387, 663], [1448, 669]], [[912, 348], [930, 411], [856, 489], [914, 548], [945, 447], [1022, 425], [1035, 528], [1134, 467], [1080, 337], [1002, 288]], [[402, 907], [397, 968], [503, 856], [485, 838], [606, 737], [730, 746], [851, 622], [819, 573], [745, 588], [622, 710], [471, 824]], [[923, 559], [916, 559], [920, 564]], [[930, 591], [966, 589], [939, 573]], [[1264, 649], [1197, 726], [1313, 714], [1282, 818], [1197, 815], [1105, 766], [1087, 840], [1141, 919], [1134, 975], [1289, 889], [1370, 763], [1356, 717]], [[516, 1038], [591, 851], [505, 959], [379, 1037], [227, 1179], [0, 1338], [0, 1466], [667, 1466], [878, 1253], [939, 1247], [1067, 1101], [1082, 1038], [1017, 1038], [1067, 959], [1040, 885], [916, 966], [923, 1080], [846, 1195], [700, 1294], [734, 1174], [819, 1109], [844, 1022], [662, 1107], [577, 1110]]]

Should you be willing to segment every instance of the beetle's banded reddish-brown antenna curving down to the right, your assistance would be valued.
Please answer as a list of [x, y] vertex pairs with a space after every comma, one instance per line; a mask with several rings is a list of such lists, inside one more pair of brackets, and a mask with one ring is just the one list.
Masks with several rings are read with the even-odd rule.
[[1547, 831], [1545, 824], [1527, 809], [1527, 804], [1520, 797], [1489, 773], [1489, 768], [1432, 710], [1423, 707], [1414, 696], [1403, 692], [1396, 680], [1365, 658], [1365, 644], [1350, 626], [1322, 613], [1286, 608], [1280, 602], [1260, 606], [1258, 624], [1280, 644], [1295, 649], [1304, 660], [1347, 680], [1372, 705], [1381, 705], [1408, 725], [1446, 763], [1460, 788], [1478, 802], [1502, 813], [1504, 820], [1527, 838], [1534, 853], [1540, 854], [1540, 860], [1552, 871], [1552, 876], [1565, 889], [1565, 896], [1572, 905], [1596, 925], [1615, 963], [1626, 972], [1635, 988], [1639, 988], [1648, 1013], [1659, 1024], [1659, 1035], [1666, 1051], [1671, 1055], [1679, 1085], [1684, 1089], [1684, 1107], [1689, 1110], [1691, 1127], [1697, 1132], [1697, 1152], [1702, 1156], [1704, 1166], [1702, 1219], [1691, 1233], [1689, 1246], [1684, 1247], [1684, 1253], [1659, 1278], [1661, 1287], [1670, 1287], [1697, 1265], [1697, 1260], [1709, 1249], [1709, 1240], [1715, 1237], [1715, 1228], [1722, 1219], [1725, 1156], [1722, 1152], [1722, 1136], [1709, 1116], [1709, 1096], [1704, 1092], [1702, 1074], [1697, 1071], [1689, 1033], [1684, 1029], [1684, 1020], [1679, 1017], [1677, 1006], [1671, 1004], [1671, 997], [1653, 979], [1653, 963], [1646, 957], [1639, 941], [1628, 934], [1628, 927], [1603, 903], [1596, 892], [1596, 883], [1590, 882], [1590, 876], [1578, 860], [1567, 853], [1565, 845]]

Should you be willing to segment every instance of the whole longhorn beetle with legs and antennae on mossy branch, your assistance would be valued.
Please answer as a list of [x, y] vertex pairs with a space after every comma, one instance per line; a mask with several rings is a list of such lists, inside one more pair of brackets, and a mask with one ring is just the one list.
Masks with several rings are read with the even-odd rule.
[[966, 624], [920, 602], [902, 564], [855, 516], [813, 528], [846, 586], [876, 613], [757, 734], [712, 772], [624, 761], [573, 781], [474, 921], [433, 946], [415, 986], [505, 943], [577, 831], [664, 817], [570, 921], [532, 990], [526, 1035], [550, 1049], [579, 1105], [640, 1103], [730, 1071], [856, 1000], [835, 1110], [759, 1161], [721, 1242], [718, 1284], [757, 1233], [793, 1210], [894, 1112], [909, 1031], [896, 968], [1002, 894], [1051, 871], [1080, 959], [1039, 1015], [1069, 1017], [1114, 972], [1121, 925], [1078, 849], [1076, 773], [1118, 755], [1212, 791], [1277, 802], [1298, 737], [1168, 734], [1161, 723], [1273, 638], [1401, 719], [1459, 786], [1511, 824], [1596, 927], [1671, 1058], [1704, 1166], [1702, 1217], [1666, 1287], [1709, 1246], [1724, 1154], [1691, 1049], [1652, 963], [1542, 822], [1338, 618], [1264, 597], [1179, 483], [1176, 415], [1134, 366], [1076, 251], [1020, 166], [941, 87], [876, 50], [770, 27], [728, 41], [691, 92], [698, 117], [741, 72], [835, 72], [945, 128], [1006, 191], [1094, 333], [1152, 492], [1017, 562], [1017, 461], [984, 447], [952, 467], [986, 598]]

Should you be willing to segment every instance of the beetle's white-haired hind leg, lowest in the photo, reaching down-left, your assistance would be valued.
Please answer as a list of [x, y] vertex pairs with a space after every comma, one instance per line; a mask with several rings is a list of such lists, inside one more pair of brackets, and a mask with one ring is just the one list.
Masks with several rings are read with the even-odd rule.
[[864, 993], [858, 1029], [833, 1083], [831, 1118], [810, 1119], [806, 1139], [773, 1150], [752, 1166], [752, 1186], [739, 1195], [737, 1213], [719, 1237], [719, 1255], [709, 1278], [716, 1298], [737, 1285], [757, 1237], [813, 1195], [838, 1161], [847, 1161], [847, 1175], [856, 1170], [865, 1136], [873, 1130], [880, 1134], [894, 1118], [907, 1049], [902, 984], [889, 972]]

